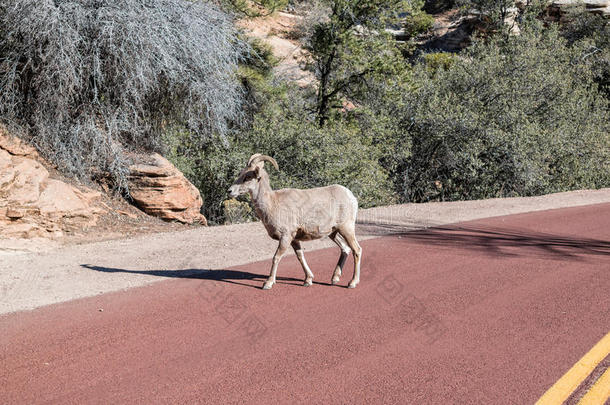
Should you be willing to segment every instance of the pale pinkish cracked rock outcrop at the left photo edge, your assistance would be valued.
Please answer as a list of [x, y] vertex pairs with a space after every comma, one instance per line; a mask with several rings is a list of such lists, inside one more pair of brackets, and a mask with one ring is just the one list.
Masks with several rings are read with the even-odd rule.
[[0, 127], [0, 237], [58, 237], [92, 225], [99, 192], [51, 178], [36, 150]]

